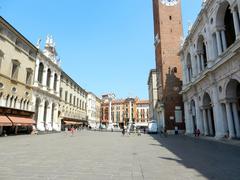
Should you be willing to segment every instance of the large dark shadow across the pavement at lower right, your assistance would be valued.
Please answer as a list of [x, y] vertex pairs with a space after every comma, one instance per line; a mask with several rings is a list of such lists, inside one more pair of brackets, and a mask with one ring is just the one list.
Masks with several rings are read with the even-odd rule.
[[[194, 139], [187, 136], [160, 137], [151, 135], [177, 158], [156, 157], [175, 161], [186, 168], [194, 169], [207, 179], [240, 179], [240, 147], [214, 141]], [[157, 144], [150, 144], [156, 146]]]

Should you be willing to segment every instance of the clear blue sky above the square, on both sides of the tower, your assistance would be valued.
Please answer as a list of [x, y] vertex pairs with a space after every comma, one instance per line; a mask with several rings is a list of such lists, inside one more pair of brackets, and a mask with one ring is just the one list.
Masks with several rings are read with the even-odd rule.
[[[182, 0], [184, 34], [202, 0]], [[61, 68], [101, 96], [148, 99], [155, 67], [152, 0], [0, 0], [0, 15], [33, 44], [52, 35]]]

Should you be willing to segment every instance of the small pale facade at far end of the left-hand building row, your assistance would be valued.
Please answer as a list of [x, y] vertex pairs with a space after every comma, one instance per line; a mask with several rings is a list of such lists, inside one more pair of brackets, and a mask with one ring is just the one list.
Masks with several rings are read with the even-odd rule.
[[100, 124], [101, 100], [93, 93], [87, 95], [87, 120], [91, 128], [97, 128]]

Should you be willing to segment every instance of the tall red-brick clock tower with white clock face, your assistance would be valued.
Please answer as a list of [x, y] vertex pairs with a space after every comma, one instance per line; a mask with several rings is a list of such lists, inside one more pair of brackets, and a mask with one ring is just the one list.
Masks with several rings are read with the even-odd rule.
[[182, 37], [181, 0], [153, 0], [159, 128], [183, 130], [183, 103], [179, 94], [182, 70], [178, 52]]

